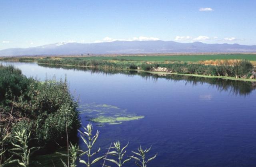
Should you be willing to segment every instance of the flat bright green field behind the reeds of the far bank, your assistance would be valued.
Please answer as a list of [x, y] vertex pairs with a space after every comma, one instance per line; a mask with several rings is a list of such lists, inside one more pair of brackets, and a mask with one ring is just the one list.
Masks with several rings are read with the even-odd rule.
[[[64, 59], [76, 59], [76, 58], [77, 57], [65, 57]], [[200, 61], [200, 60], [217, 60], [217, 59], [246, 59], [250, 61], [256, 61], [256, 54], [80, 57], [80, 59], [132, 60], [132, 61]]]

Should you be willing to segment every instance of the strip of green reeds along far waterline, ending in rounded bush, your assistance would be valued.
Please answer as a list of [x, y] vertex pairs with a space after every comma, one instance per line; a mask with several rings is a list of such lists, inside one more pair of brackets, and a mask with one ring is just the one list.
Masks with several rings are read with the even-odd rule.
[[[72, 65], [84, 67], [96, 67], [98, 69], [113, 70], [143, 70], [155, 71], [159, 67], [164, 68], [164, 72], [180, 74], [198, 74], [210, 76], [236, 77], [236, 78], [256, 78], [253, 65], [250, 61], [236, 61], [234, 65], [203, 65], [192, 63], [154, 63], [154, 62], [130, 62], [130, 61], [110, 61], [110, 60], [84, 60], [84, 59], [38, 59], [38, 63], [53, 65]], [[159, 70], [158, 70], [159, 71]]]

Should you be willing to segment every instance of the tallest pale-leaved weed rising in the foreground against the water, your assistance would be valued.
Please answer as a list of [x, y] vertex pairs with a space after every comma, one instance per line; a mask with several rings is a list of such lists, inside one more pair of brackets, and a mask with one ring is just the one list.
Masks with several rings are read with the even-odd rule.
[[98, 139], [100, 132], [97, 130], [96, 134], [94, 136], [92, 136], [92, 124], [88, 124], [86, 126], [86, 128], [85, 127], [83, 127], [83, 128], [84, 128], [85, 132], [81, 132], [80, 130], [78, 130], [78, 131], [80, 132], [80, 137], [86, 144], [86, 147], [88, 148], [88, 150], [84, 151], [80, 156], [87, 155], [88, 160], [84, 161], [82, 159], [79, 159], [79, 162], [84, 163], [87, 167], [91, 167], [92, 164], [94, 164], [104, 158], [104, 156], [102, 156], [102, 157], [97, 157], [94, 160], [91, 160], [91, 157], [100, 151], [100, 148], [99, 148], [96, 152], [92, 153], [92, 147], [93, 147], [94, 143], [96, 142], [96, 140]]

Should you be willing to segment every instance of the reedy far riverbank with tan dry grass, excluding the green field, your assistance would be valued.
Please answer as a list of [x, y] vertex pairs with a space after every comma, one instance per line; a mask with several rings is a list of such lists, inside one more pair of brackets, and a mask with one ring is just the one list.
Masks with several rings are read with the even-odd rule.
[[[207, 55], [205, 55], [207, 57]], [[238, 55], [236, 55], [237, 57]], [[230, 55], [229, 55], [230, 57]], [[85, 59], [79, 57], [20, 57], [6, 58], [6, 61], [36, 62], [45, 65], [90, 67], [111, 71], [143, 71], [157, 75], [185, 75], [193, 77], [220, 78], [236, 81], [256, 82], [255, 62], [247, 60], [184, 61], [136, 61], [120, 59]], [[145, 59], [146, 60], [146, 59]]]

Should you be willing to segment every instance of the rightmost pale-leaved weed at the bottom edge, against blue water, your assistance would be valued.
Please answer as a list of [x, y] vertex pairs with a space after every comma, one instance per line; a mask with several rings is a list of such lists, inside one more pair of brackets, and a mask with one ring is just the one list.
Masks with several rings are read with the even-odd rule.
[[143, 150], [141, 145], [140, 147], [138, 148], [138, 152], [135, 152], [135, 151], [132, 151], [132, 153], [134, 153], [135, 155], [137, 155], [138, 157], [132, 155], [131, 158], [135, 159], [135, 164], [138, 166], [138, 167], [147, 167], [147, 163], [153, 159], [156, 158], [156, 155], [154, 155], [153, 157], [149, 158], [148, 160], [146, 160], [146, 153], [148, 153], [148, 151], [151, 149], [151, 146], [149, 149], [145, 149]]

